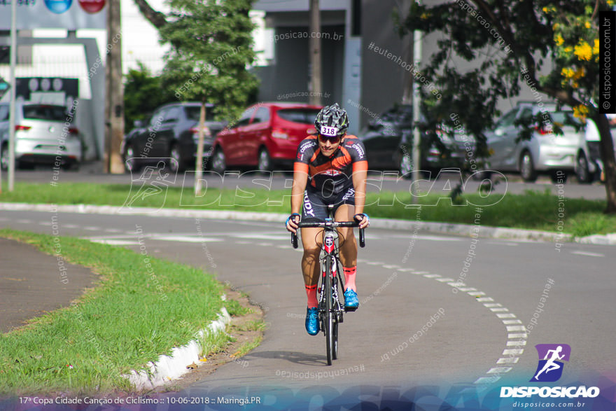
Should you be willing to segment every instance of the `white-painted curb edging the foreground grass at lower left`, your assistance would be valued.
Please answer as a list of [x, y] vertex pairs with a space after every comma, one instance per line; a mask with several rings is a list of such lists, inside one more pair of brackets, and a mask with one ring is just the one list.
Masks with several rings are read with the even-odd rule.
[[[223, 295], [223, 300], [224, 300]], [[218, 314], [218, 319], [212, 321], [205, 330], [199, 331], [199, 337], [204, 337], [207, 334], [218, 334], [225, 332], [225, 326], [230, 323], [231, 316], [227, 309], [223, 307], [221, 313]], [[192, 363], [199, 363], [199, 354], [202, 352], [200, 342], [192, 340], [183, 347], [174, 347], [171, 356], [160, 356], [155, 363], [150, 362], [148, 370], [139, 372], [132, 370], [129, 375], [124, 375], [134, 384], [135, 389], [141, 391], [144, 389], [153, 389], [156, 386], [161, 386], [166, 382], [178, 379], [182, 375], [189, 372], [186, 368]]]

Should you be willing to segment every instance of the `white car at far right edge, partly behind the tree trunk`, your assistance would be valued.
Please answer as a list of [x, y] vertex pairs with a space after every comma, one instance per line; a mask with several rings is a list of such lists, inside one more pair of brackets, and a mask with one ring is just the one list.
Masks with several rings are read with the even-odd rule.
[[[616, 134], [616, 116], [608, 114], [610, 120], [610, 131], [612, 132], [612, 142]], [[599, 148], [599, 132], [593, 120], [587, 119], [584, 128], [584, 140], [582, 146], [577, 151], [575, 158], [575, 175], [580, 183], [592, 183], [601, 179], [603, 172], [603, 161]], [[615, 146], [616, 151], [616, 146]]]

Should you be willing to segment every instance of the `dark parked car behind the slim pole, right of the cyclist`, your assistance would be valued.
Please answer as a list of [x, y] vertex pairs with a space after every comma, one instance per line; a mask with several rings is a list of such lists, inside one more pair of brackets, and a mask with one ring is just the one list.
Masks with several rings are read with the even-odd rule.
[[[408, 175], [412, 169], [412, 125], [412, 106], [400, 104], [380, 113], [364, 127], [358, 137], [366, 148], [370, 169], [395, 169]], [[475, 139], [444, 125], [434, 131], [436, 140], [430, 139], [426, 130], [420, 134], [421, 170], [462, 168], [468, 153], [475, 150]]]

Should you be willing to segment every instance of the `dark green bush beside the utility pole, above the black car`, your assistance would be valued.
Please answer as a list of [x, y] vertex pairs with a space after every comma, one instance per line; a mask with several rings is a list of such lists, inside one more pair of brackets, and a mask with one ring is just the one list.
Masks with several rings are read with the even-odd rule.
[[146, 122], [154, 109], [173, 102], [174, 92], [163, 87], [161, 78], [153, 76], [141, 62], [130, 69], [124, 84], [124, 130], [129, 132], [135, 120]]

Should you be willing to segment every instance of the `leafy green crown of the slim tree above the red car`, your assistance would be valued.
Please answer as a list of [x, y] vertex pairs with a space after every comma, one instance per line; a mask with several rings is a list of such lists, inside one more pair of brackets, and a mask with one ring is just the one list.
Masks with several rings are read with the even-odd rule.
[[172, 44], [162, 75], [177, 99], [210, 102], [218, 118], [237, 118], [257, 88], [246, 67], [255, 58], [252, 0], [171, 0], [172, 13], [160, 29]]

